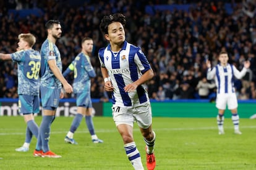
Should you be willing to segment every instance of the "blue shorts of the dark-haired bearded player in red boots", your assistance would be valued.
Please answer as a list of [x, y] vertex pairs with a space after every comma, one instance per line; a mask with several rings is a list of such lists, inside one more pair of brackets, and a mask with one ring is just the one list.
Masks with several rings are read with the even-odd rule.
[[61, 89], [51, 89], [40, 86], [42, 107], [46, 110], [54, 110], [59, 106]]

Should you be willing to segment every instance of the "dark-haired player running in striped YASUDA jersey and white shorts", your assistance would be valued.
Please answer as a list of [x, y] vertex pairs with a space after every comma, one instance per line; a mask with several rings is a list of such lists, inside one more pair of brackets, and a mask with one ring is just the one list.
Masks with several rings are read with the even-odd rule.
[[101, 32], [109, 41], [109, 45], [98, 52], [101, 73], [105, 90], [113, 92], [113, 119], [130, 163], [134, 169], [143, 169], [133, 137], [136, 121], [146, 144], [147, 168], [155, 169], [156, 135], [151, 127], [151, 104], [144, 84], [153, 78], [153, 70], [142, 50], [126, 41], [125, 24], [126, 17], [122, 14], [106, 15], [101, 20]]

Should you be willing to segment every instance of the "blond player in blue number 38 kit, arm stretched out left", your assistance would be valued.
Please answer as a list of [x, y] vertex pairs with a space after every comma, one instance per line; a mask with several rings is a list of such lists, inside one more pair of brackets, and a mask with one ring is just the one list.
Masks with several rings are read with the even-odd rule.
[[12, 60], [18, 65], [18, 94], [19, 113], [23, 114], [27, 124], [25, 142], [17, 152], [28, 152], [33, 135], [38, 137], [38, 125], [35, 123], [34, 113], [39, 113], [40, 99], [40, 62], [41, 56], [38, 51], [32, 49], [36, 42], [33, 34], [19, 34], [17, 52], [12, 54], [0, 53], [1, 60]]

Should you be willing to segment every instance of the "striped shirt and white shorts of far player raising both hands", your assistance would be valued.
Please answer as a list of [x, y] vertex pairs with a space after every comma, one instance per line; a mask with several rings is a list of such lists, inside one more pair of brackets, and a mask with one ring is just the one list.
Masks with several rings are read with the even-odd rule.
[[234, 88], [234, 77], [241, 79], [246, 74], [247, 68], [241, 71], [237, 70], [234, 65], [228, 64], [226, 67], [220, 64], [215, 67], [208, 68], [207, 79], [215, 78], [217, 87], [216, 91], [216, 107], [221, 110], [237, 108], [236, 89]]

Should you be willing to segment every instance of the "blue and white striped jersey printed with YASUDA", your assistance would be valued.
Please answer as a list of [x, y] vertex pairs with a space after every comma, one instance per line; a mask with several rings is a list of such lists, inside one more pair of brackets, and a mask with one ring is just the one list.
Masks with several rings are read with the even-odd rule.
[[100, 49], [98, 53], [101, 67], [108, 70], [113, 84], [113, 104], [124, 107], [136, 107], [141, 103], [149, 102], [145, 85], [141, 84], [135, 92], [125, 92], [124, 87], [133, 83], [150, 70], [150, 63], [139, 47], [124, 41], [121, 51], [111, 51], [110, 44]]

